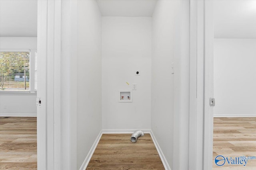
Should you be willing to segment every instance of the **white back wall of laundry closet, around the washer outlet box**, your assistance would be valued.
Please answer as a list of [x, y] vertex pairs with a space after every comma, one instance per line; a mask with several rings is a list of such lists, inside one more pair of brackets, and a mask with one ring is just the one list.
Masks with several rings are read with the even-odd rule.
[[[151, 17], [102, 17], [103, 129], [150, 129], [151, 25]], [[118, 102], [132, 83], [133, 101]]]

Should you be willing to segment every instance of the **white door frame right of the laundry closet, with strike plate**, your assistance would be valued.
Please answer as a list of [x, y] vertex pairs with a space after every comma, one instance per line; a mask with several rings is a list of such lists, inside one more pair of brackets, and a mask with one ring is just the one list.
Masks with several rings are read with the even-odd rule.
[[190, 0], [190, 170], [212, 169], [213, 1]]

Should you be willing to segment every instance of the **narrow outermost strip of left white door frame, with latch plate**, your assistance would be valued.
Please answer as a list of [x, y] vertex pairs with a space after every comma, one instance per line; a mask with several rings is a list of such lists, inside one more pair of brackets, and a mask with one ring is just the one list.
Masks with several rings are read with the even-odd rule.
[[46, 117], [46, 55], [47, 55], [47, 1], [38, 0], [38, 88], [37, 100], [37, 168], [44, 170], [47, 167], [47, 117]]

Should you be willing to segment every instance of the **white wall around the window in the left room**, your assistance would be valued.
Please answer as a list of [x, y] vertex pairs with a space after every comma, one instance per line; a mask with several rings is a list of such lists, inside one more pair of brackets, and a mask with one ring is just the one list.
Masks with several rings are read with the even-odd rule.
[[[0, 49], [30, 50], [31, 70], [34, 70], [33, 57], [36, 47], [36, 37], [0, 37]], [[34, 72], [30, 72], [30, 80], [32, 79], [34, 79]], [[34, 84], [30, 86], [33, 88]], [[30, 94], [0, 93], [0, 116], [36, 116], [36, 94], [34, 92]]]

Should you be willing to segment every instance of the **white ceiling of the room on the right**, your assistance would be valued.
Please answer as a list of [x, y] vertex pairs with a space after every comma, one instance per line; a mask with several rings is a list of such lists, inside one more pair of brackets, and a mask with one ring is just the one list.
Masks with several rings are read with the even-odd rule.
[[256, 0], [215, 0], [214, 38], [256, 38]]

